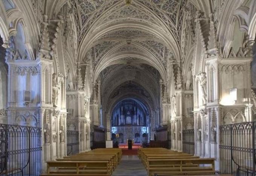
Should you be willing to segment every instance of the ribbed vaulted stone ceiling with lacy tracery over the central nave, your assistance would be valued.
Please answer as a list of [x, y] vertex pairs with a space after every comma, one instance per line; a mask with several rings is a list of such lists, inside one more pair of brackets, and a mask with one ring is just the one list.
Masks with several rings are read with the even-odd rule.
[[101, 81], [102, 106], [109, 108], [113, 101], [130, 96], [158, 108], [160, 79], [167, 82], [171, 64], [180, 63], [183, 15], [193, 5], [187, 0], [69, 3], [78, 62], [90, 63], [92, 82]]

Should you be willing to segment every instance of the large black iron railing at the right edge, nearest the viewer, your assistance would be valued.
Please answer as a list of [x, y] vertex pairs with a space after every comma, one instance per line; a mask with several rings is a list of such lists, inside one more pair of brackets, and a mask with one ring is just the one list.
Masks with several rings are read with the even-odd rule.
[[256, 122], [221, 125], [220, 172], [237, 176], [255, 176]]

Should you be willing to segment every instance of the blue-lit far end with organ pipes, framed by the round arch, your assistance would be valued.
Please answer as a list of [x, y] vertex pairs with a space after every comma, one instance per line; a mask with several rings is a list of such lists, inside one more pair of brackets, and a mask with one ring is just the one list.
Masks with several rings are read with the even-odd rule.
[[126, 144], [127, 140], [134, 144], [148, 143], [148, 115], [148, 109], [135, 100], [118, 103], [112, 112], [111, 140], [118, 144]]

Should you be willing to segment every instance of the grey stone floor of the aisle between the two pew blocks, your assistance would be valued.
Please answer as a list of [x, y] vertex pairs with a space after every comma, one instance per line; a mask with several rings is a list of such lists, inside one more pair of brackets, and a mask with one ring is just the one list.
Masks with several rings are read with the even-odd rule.
[[148, 176], [145, 167], [136, 155], [123, 155], [112, 176]]

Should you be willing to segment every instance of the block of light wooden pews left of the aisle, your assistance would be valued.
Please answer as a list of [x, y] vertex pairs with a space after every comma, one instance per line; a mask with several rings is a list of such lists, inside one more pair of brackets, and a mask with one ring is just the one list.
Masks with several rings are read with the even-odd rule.
[[111, 176], [120, 163], [122, 149], [95, 149], [47, 161], [42, 176]]

